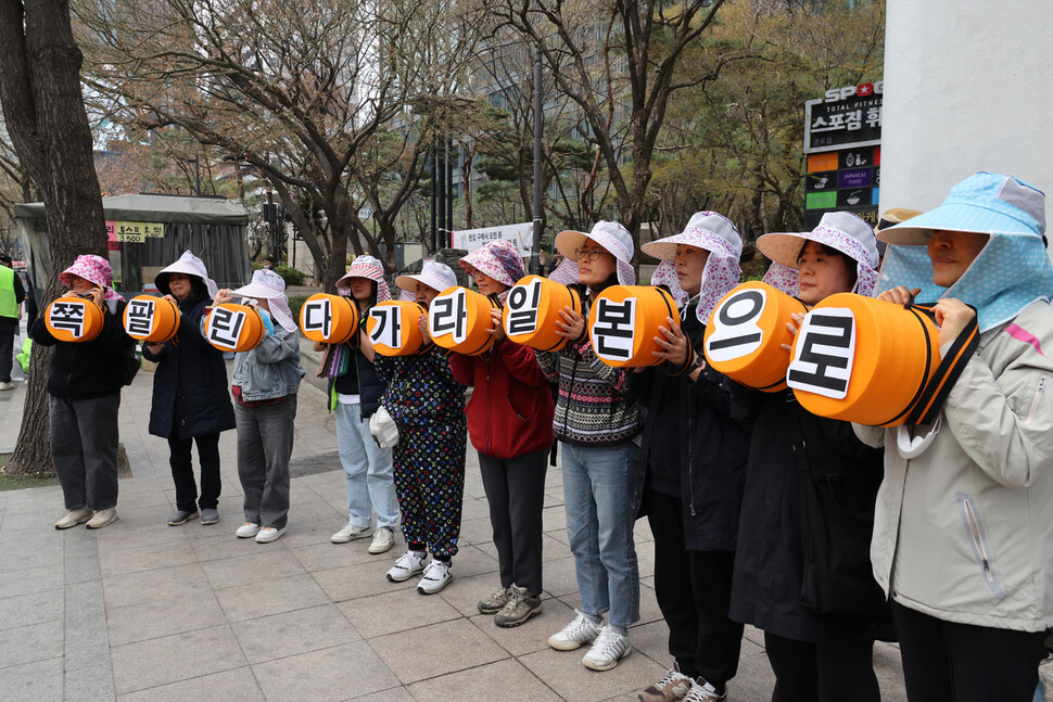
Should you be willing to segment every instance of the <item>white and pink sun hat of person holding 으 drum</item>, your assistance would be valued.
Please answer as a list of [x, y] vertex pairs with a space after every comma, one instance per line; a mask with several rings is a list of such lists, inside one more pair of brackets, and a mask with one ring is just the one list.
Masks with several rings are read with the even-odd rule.
[[764, 282], [789, 295], [797, 294], [797, 255], [805, 242], [815, 241], [836, 248], [855, 260], [855, 289], [870, 297], [877, 284], [877, 239], [865, 221], [847, 212], [828, 212], [812, 231], [764, 234], [757, 247], [774, 264]]

